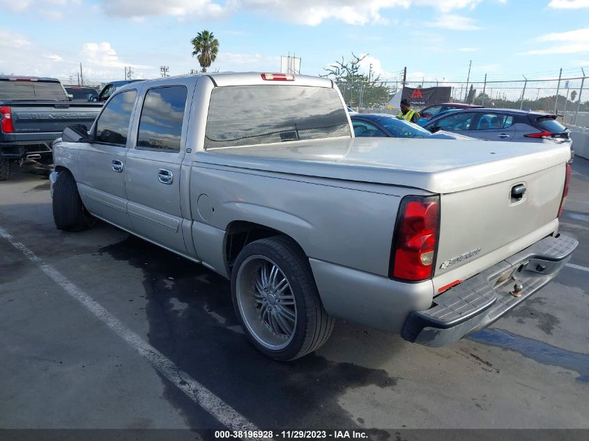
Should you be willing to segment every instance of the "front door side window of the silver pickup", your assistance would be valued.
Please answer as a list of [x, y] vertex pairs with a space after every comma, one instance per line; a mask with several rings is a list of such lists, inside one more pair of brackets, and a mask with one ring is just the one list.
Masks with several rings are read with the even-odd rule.
[[96, 121], [96, 141], [108, 144], [127, 144], [131, 112], [137, 91], [124, 91], [114, 96], [105, 105]]

